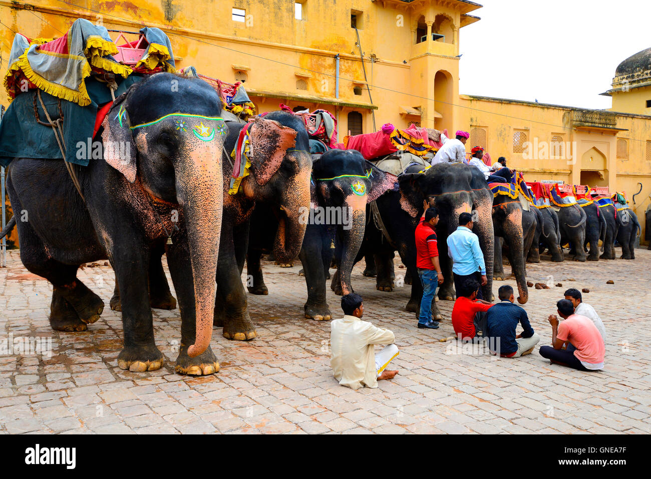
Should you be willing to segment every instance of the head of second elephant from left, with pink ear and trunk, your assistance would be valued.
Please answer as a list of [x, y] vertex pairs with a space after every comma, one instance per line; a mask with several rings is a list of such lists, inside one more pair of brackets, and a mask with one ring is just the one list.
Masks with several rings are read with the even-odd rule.
[[273, 252], [279, 262], [291, 262], [301, 251], [307, 226], [300, 221], [301, 211], [310, 205], [312, 157], [305, 124], [291, 113], [273, 111], [255, 118], [249, 143], [251, 174], [242, 180], [242, 191], [275, 206], [279, 225]]

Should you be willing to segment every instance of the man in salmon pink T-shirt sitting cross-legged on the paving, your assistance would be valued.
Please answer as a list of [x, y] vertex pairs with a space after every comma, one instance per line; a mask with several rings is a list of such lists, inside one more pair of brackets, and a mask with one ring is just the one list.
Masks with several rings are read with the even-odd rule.
[[[574, 314], [574, 305], [568, 299], [556, 304], [559, 316], [551, 314], [547, 320], [551, 324], [551, 346], [541, 346], [540, 355], [552, 363], [569, 366], [579, 371], [603, 369], [605, 346], [603, 338], [590, 318]], [[562, 349], [563, 344], [567, 349]]]

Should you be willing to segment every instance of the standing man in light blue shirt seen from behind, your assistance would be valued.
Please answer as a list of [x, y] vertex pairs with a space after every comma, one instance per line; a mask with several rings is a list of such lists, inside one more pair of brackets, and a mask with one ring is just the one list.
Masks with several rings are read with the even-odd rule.
[[[448, 256], [452, 258], [452, 273], [454, 273], [454, 290], [456, 297], [463, 289], [466, 279], [473, 278], [486, 286], [486, 264], [484, 253], [479, 246], [479, 238], [473, 233], [473, 215], [461, 213], [459, 215], [459, 227], [450, 234], [447, 239]], [[484, 299], [482, 288], [477, 294], [479, 299]]]

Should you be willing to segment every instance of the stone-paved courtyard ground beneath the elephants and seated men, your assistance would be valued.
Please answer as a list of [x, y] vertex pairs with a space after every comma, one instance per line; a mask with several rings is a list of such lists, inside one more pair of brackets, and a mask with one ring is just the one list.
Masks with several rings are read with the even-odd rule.
[[[495, 359], [454, 351], [452, 303], [436, 331], [416, 328], [404, 312], [409, 286], [375, 289], [353, 271], [365, 319], [392, 329], [400, 356], [393, 381], [378, 389], [341, 387], [329, 367], [329, 324], [303, 318], [307, 298], [298, 266], [264, 264], [268, 296], [249, 295], [258, 338], [229, 341], [215, 329], [221, 371], [208, 377], [174, 373], [180, 340], [177, 310], [154, 310], [156, 344], [167, 362], [158, 371], [120, 370], [120, 313], [110, 310], [113, 271], [85, 267], [79, 278], [106, 304], [83, 333], [49, 328], [51, 285], [27, 272], [18, 251], [0, 269], [0, 341], [51, 337], [51, 357], [0, 355], [2, 433], [648, 433], [651, 425], [651, 251], [637, 260], [527, 265], [530, 281], [562, 283], [530, 290], [531, 323], [549, 344], [546, 321], [568, 287], [589, 288], [585, 301], [607, 329], [605, 369], [577, 372], [538, 355]], [[400, 277], [405, 269], [398, 268]], [[508, 267], [507, 267], [508, 271]], [[575, 281], [570, 281], [574, 279]], [[606, 284], [612, 279], [615, 284]], [[510, 279], [506, 283], [515, 286]], [[495, 282], [494, 291], [503, 284]], [[339, 297], [328, 290], [335, 317]], [[1, 344], [1, 343], [0, 343]]]

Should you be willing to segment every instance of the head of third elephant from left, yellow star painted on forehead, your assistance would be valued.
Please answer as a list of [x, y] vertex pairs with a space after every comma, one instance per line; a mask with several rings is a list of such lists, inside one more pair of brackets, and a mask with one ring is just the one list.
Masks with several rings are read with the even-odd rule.
[[335, 278], [342, 294], [350, 294], [350, 273], [364, 239], [367, 203], [393, 188], [397, 178], [378, 169], [356, 150], [329, 150], [314, 163], [312, 179], [314, 208], [320, 208], [319, 213], [326, 218], [334, 217], [337, 223], [342, 250]]

